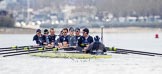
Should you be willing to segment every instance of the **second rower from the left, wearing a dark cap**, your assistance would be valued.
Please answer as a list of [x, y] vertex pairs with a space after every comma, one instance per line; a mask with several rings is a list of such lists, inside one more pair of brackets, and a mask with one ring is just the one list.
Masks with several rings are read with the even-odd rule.
[[43, 45], [51, 46], [49, 31], [47, 29], [44, 30]]

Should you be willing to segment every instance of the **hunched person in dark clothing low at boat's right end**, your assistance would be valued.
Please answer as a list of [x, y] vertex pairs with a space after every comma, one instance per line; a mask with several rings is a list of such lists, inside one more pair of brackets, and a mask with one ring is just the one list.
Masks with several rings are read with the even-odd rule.
[[94, 37], [94, 42], [86, 49], [86, 53], [90, 54], [104, 54], [106, 52], [105, 45], [100, 42], [99, 36]]

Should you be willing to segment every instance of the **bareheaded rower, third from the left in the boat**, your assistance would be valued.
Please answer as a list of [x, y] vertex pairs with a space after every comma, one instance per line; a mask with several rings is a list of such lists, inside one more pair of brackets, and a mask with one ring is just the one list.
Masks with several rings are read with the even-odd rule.
[[57, 42], [56, 42], [57, 35], [55, 35], [54, 28], [50, 28], [50, 35], [49, 35], [49, 37], [50, 37], [50, 44], [52, 46], [55, 46], [57, 44]]

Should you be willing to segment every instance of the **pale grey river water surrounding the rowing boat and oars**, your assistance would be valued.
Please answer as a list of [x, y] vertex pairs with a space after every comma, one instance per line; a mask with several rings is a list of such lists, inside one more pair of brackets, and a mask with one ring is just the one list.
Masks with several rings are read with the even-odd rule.
[[[33, 45], [34, 34], [1, 34], [0, 47]], [[91, 34], [100, 35], [99, 33]], [[130, 50], [162, 53], [162, 33], [104, 33], [104, 44]], [[30, 55], [1, 57], [0, 74], [161, 74], [162, 57], [111, 54], [110, 59], [42, 58]]]

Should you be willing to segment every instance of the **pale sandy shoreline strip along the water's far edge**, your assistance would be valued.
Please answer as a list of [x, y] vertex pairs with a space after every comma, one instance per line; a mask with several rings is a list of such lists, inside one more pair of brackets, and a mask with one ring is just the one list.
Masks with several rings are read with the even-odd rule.
[[[62, 28], [55, 28], [56, 33], [59, 33]], [[101, 28], [89, 28], [91, 33], [101, 32]], [[42, 29], [43, 30], [43, 29]], [[162, 32], [160, 28], [140, 28], [140, 27], [125, 27], [125, 28], [104, 28], [104, 33], [127, 33], [127, 32]], [[28, 28], [0, 28], [0, 34], [34, 34], [35, 29]]]

